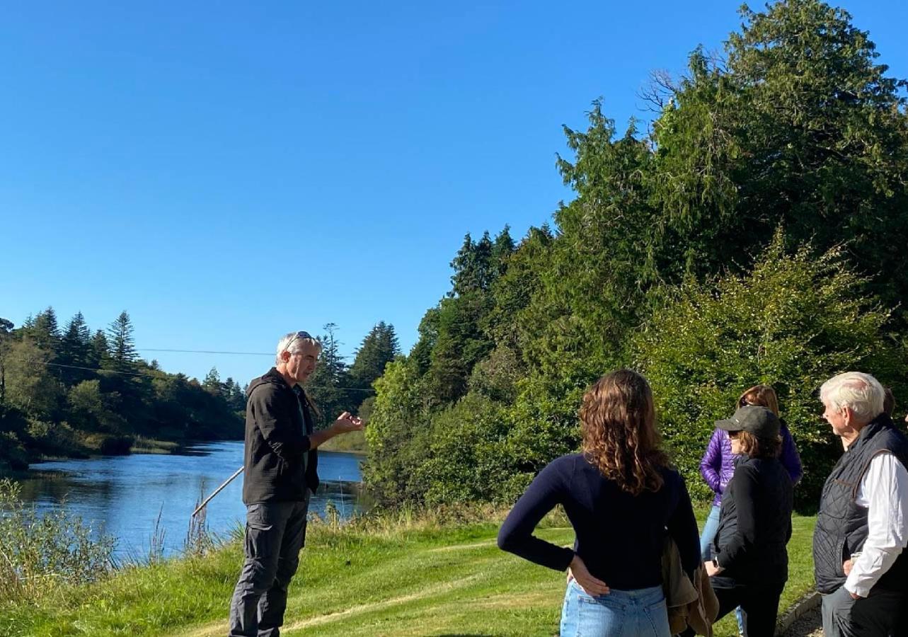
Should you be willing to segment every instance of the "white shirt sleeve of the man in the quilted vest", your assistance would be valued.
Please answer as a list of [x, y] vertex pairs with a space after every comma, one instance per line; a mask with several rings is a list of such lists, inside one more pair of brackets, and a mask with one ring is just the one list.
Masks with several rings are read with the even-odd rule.
[[852, 564], [845, 590], [866, 597], [908, 545], [908, 470], [893, 453], [877, 453], [854, 501], [867, 511], [867, 541]]

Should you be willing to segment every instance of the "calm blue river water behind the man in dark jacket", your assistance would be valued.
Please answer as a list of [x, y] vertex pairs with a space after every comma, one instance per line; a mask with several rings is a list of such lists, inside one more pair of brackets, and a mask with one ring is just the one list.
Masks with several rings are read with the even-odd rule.
[[[310, 512], [333, 502], [342, 516], [358, 507], [361, 456], [319, 453], [322, 486]], [[164, 554], [183, 549], [192, 510], [242, 466], [242, 441], [198, 444], [173, 455], [134, 454], [35, 463], [22, 480], [26, 501], [39, 511], [64, 506], [116, 538], [120, 559], [147, 557], [160, 513]], [[208, 530], [221, 537], [245, 521], [242, 473], [208, 504]]]

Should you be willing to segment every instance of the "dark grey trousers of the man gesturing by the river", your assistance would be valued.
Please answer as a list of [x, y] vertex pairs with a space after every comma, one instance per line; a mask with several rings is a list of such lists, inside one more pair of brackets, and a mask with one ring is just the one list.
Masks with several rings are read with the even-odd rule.
[[246, 507], [246, 559], [233, 589], [229, 637], [278, 637], [300, 565], [309, 500]]

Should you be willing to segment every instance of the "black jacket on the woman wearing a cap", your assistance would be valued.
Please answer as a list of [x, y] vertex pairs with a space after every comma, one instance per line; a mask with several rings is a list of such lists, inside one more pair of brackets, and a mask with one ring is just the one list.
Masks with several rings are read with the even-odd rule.
[[713, 554], [725, 569], [714, 586], [775, 584], [788, 579], [794, 489], [776, 458], [743, 457], [725, 488]]

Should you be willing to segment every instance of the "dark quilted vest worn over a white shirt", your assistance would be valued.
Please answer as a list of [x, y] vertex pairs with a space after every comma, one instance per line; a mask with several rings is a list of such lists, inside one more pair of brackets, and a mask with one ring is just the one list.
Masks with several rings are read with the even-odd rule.
[[[888, 415], [881, 413], [861, 430], [823, 485], [814, 530], [814, 577], [819, 592], [834, 592], [844, 584], [842, 563], [864, 546], [867, 510], [854, 499], [873, 456], [886, 452], [894, 453], [908, 467], [908, 439], [895, 429]], [[878, 588], [908, 590], [908, 552], [902, 552], [893, 567], [883, 573], [873, 586], [874, 590]]]

